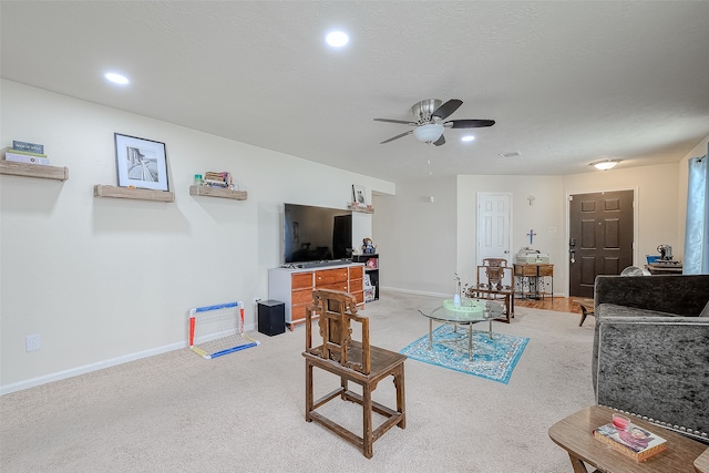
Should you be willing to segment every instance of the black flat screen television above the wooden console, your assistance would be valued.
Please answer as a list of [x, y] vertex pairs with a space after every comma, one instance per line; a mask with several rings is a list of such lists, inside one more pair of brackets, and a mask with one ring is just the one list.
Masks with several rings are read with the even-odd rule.
[[330, 261], [351, 256], [351, 210], [284, 205], [284, 263]]

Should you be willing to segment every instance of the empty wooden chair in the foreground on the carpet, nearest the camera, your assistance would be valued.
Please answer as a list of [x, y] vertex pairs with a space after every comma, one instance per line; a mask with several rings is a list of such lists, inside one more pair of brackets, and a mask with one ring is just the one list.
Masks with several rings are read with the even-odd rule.
[[[369, 319], [357, 315], [354, 298], [342, 291], [312, 291], [312, 304], [306, 309], [306, 422], [316, 421], [342, 439], [362, 449], [372, 457], [372, 443], [389, 429], [407, 425], [403, 364], [404, 354], [369, 345]], [[322, 345], [312, 347], [312, 319], [318, 317]], [[351, 337], [351, 321], [361, 325], [361, 340]], [[312, 369], [320, 368], [340, 377], [340, 387], [325, 397], [312, 399]], [[372, 391], [382, 379], [393, 376], [397, 389], [397, 410], [372, 401]], [[362, 387], [362, 394], [348, 389], [348, 382]], [[318, 408], [340, 397], [362, 407], [362, 436], [316, 412]], [[372, 412], [388, 418], [372, 430]]]

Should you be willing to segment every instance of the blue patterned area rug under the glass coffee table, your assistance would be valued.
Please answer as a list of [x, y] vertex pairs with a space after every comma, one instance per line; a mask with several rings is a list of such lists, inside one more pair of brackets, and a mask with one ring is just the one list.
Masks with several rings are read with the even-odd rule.
[[429, 348], [429, 335], [424, 335], [401, 350], [413, 360], [424, 361], [480, 378], [507, 384], [528, 338], [473, 330], [473, 361], [467, 352], [467, 327], [453, 331], [452, 325], [433, 330], [433, 348]]

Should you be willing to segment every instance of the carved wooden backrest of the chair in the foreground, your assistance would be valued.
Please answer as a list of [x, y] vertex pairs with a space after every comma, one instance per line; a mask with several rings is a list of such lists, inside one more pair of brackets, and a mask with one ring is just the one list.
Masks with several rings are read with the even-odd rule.
[[[318, 318], [322, 345], [312, 347], [312, 318]], [[360, 340], [352, 340], [351, 321], [360, 322]], [[345, 368], [370, 372], [369, 319], [357, 313], [357, 301], [348, 292], [331, 289], [312, 291], [306, 308], [306, 351], [332, 360]]]

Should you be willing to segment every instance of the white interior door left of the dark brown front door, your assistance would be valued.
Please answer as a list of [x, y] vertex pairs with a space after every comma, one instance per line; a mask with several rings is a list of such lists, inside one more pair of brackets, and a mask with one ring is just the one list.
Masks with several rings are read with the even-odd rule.
[[505, 258], [512, 266], [511, 204], [512, 194], [477, 193], [477, 265], [483, 258]]

